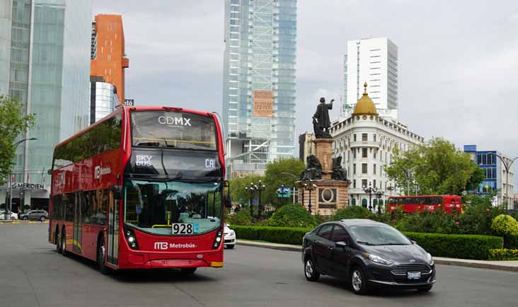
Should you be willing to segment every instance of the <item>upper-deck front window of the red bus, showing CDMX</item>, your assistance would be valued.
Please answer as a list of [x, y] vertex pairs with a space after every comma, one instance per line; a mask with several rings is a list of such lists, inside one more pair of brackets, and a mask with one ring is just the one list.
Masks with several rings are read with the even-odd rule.
[[212, 117], [173, 111], [135, 111], [133, 146], [216, 150]]

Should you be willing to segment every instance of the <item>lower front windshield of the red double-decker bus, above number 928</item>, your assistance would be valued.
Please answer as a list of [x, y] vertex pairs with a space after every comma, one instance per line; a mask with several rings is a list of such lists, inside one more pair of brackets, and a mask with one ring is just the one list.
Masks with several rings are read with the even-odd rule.
[[[176, 235], [175, 224], [190, 224], [192, 233], [221, 226], [221, 183], [125, 181], [125, 223], [148, 233]], [[178, 229], [176, 229], [178, 230]]]

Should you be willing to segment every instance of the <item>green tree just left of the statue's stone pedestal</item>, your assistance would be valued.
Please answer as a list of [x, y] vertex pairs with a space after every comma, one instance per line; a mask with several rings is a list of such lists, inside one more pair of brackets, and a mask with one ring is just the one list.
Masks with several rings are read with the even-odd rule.
[[[277, 197], [277, 189], [281, 185], [293, 188], [294, 182], [299, 180], [302, 170], [304, 170], [304, 162], [298, 158], [282, 158], [268, 163], [265, 171], [266, 189], [264, 198], [261, 197], [263, 199], [262, 202], [274, 206], [280, 204], [280, 199]], [[284, 198], [283, 204], [291, 203], [292, 197]]]

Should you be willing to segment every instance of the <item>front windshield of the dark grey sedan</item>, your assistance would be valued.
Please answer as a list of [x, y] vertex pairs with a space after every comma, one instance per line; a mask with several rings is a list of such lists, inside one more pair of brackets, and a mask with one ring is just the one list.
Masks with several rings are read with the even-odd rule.
[[410, 245], [402, 233], [391, 226], [351, 226], [352, 238], [364, 245]]

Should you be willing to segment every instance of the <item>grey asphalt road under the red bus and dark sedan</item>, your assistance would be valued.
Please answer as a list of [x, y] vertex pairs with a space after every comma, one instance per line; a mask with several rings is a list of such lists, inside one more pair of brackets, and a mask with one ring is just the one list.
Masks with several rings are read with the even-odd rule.
[[299, 253], [236, 246], [225, 267], [100, 274], [63, 257], [48, 224], [0, 224], [0, 306], [518, 306], [518, 273], [437, 266], [430, 293], [357, 296], [338, 279], [306, 282]]

